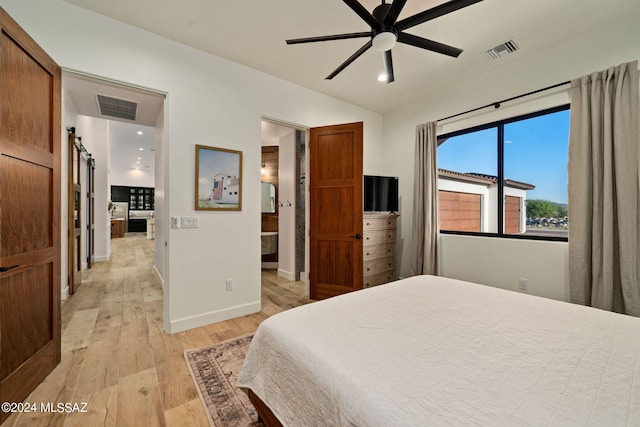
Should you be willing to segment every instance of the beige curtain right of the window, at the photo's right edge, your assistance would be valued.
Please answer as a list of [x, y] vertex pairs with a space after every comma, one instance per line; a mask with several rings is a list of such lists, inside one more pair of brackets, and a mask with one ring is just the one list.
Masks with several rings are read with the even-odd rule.
[[638, 63], [571, 82], [571, 302], [640, 316]]

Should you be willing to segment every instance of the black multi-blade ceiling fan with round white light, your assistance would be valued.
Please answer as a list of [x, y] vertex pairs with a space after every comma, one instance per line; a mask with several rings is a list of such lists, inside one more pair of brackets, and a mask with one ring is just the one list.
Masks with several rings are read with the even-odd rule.
[[482, 0], [450, 0], [446, 3], [417, 13], [400, 21], [398, 21], [398, 16], [400, 15], [400, 12], [402, 12], [402, 8], [404, 7], [407, 0], [393, 0], [392, 3], [385, 3], [385, 0], [382, 0], [382, 4], [376, 6], [376, 8], [373, 10], [373, 13], [369, 13], [369, 11], [357, 0], [343, 1], [355, 13], [357, 13], [360, 18], [362, 18], [367, 24], [369, 24], [369, 26], [371, 27], [371, 31], [335, 34], [331, 36], [307, 37], [302, 39], [290, 39], [286, 41], [287, 44], [313, 43], [330, 40], [370, 37], [371, 40], [365, 43], [364, 46], [358, 49], [345, 62], [343, 62], [338, 68], [336, 68], [331, 74], [329, 74], [326, 79], [333, 79], [342, 70], [347, 68], [349, 64], [358, 59], [360, 55], [369, 50], [369, 48], [373, 47], [378, 52], [382, 52], [382, 58], [386, 72], [386, 82], [391, 83], [392, 81], [394, 81], [391, 49], [395, 46], [396, 42], [430, 50], [436, 53], [441, 53], [443, 55], [448, 55], [454, 58], [457, 58], [462, 53], [462, 49], [458, 49], [456, 47], [448, 46], [446, 44], [438, 43], [436, 41], [425, 39], [422, 37], [414, 36], [413, 34], [405, 33], [404, 30], [430, 21], [439, 16], [455, 12], [456, 10], [465, 8], [467, 6], [471, 6], [472, 4], [478, 3]]

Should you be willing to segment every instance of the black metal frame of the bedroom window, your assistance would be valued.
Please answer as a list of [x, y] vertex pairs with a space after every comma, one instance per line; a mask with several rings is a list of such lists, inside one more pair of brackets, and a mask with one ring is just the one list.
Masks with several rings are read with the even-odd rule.
[[[482, 130], [486, 130], [486, 129], [491, 129], [491, 128], [496, 128], [497, 130], [497, 138], [496, 138], [496, 145], [497, 145], [497, 156], [498, 156], [498, 173], [497, 173], [497, 177], [498, 177], [498, 182], [500, 183], [500, 185], [498, 185], [498, 206], [497, 206], [497, 212], [498, 212], [498, 219], [497, 219], [497, 226], [498, 226], [498, 230], [501, 230], [498, 233], [485, 233], [485, 232], [476, 232], [476, 231], [455, 231], [455, 230], [440, 230], [440, 224], [438, 224], [438, 232], [440, 234], [453, 234], [453, 235], [461, 235], [461, 236], [475, 236], [475, 237], [492, 237], [492, 238], [504, 238], [504, 239], [519, 239], [519, 240], [542, 240], [542, 241], [552, 241], [552, 242], [568, 242], [569, 241], [569, 237], [560, 237], [560, 236], [535, 236], [535, 235], [526, 235], [525, 234], [506, 234], [504, 232], [504, 196], [505, 196], [505, 191], [504, 191], [504, 182], [505, 182], [505, 178], [504, 178], [504, 127], [505, 125], [511, 124], [511, 123], [515, 123], [515, 122], [519, 122], [519, 121], [523, 121], [523, 120], [528, 120], [528, 119], [532, 119], [535, 117], [540, 117], [540, 116], [545, 116], [545, 115], [549, 115], [549, 114], [554, 114], [554, 113], [558, 113], [560, 111], [566, 111], [566, 110], [570, 110], [571, 104], [562, 104], [556, 107], [551, 107], [551, 108], [545, 108], [543, 110], [539, 110], [539, 111], [535, 111], [532, 113], [526, 113], [526, 114], [521, 114], [518, 116], [514, 116], [514, 117], [510, 117], [507, 119], [502, 119], [502, 120], [497, 120], [497, 121], [493, 121], [493, 122], [489, 122], [489, 123], [484, 123], [481, 125], [477, 125], [477, 126], [473, 126], [470, 128], [465, 128], [465, 129], [460, 129], [457, 131], [453, 131], [453, 132], [449, 132], [449, 133], [445, 133], [442, 135], [438, 135], [436, 137], [436, 141], [437, 141], [437, 147], [439, 148], [440, 145], [446, 143], [447, 139], [449, 138], [453, 138], [456, 136], [460, 136], [460, 135], [466, 135], [469, 133], [473, 133], [473, 132], [479, 132]], [[569, 141], [567, 141], [567, 147], [568, 147]], [[437, 148], [436, 148], [437, 149]], [[438, 188], [438, 191], [440, 191], [440, 189]], [[438, 208], [439, 209], [439, 208]]]

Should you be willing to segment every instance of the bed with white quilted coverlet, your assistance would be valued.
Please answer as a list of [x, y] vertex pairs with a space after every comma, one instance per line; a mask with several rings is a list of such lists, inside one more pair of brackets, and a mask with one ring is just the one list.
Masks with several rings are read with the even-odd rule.
[[237, 385], [285, 426], [640, 425], [640, 319], [417, 276], [265, 320]]

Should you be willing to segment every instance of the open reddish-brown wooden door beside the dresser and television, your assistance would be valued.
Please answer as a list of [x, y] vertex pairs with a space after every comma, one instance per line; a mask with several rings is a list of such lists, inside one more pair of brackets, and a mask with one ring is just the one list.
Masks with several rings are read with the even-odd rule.
[[362, 123], [312, 128], [310, 296], [362, 289]]

